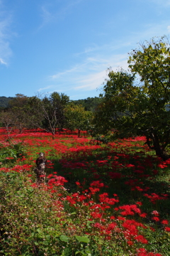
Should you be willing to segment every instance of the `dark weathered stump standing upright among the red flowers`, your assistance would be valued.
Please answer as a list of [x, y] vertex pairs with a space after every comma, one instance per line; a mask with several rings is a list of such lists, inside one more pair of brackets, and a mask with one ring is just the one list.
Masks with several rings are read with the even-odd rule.
[[36, 160], [37, 168], [35, 168], [35, 173], [37, 174], [37, 182], [44, 183], [45, 182], [45, 165], [47, 163], [47, 159], [45, 159], [45, 154], [40, 153], [38, 159]]

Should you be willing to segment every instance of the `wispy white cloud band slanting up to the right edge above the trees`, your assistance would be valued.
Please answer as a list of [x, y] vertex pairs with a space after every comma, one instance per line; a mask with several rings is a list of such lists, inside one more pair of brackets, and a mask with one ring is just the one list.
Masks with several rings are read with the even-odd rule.
[[65, 93], [92, 91], [103, 87], [103, 82], [108, 78], [107, 68], [118, 70], [121, 67], [128, 70], [128, 53], [133, 48], [138, 48], [137, 43], [149, 40], [155, 35], [166, 34], [167, 27], [170, 30], [168, 25], [167, 21], [161, 24], [145, 24], [143, 31], [132, 32], [123, 40], [120, 38], [119, 41], [103, 45], [91, 43], [91, 46], [80, 53], [73, 54], [75, 64], [72, 67], [50, 75], [49, 80], [52, 80], [57, 91], [62, 85], [62, 91]]

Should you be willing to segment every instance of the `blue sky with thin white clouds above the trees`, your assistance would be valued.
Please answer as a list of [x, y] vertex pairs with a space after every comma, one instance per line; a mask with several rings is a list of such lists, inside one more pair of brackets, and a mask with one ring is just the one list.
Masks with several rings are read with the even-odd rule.
[[0, 0], [0, 96], [98, 97], [106, 70], [170, 34], [170, 0]]

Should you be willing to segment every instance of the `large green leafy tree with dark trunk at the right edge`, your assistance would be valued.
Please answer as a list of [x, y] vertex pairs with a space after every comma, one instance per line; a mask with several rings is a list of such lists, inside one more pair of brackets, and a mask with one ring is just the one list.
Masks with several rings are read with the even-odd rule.
[[143, 135], [157, 156], [168, 159], [170, 142], [170, 47], [166, 37], [145, 41], [132, 50], [128, 72], [110, 70], [103, 102], [96, 111], [101, 132], [117, 137]]

